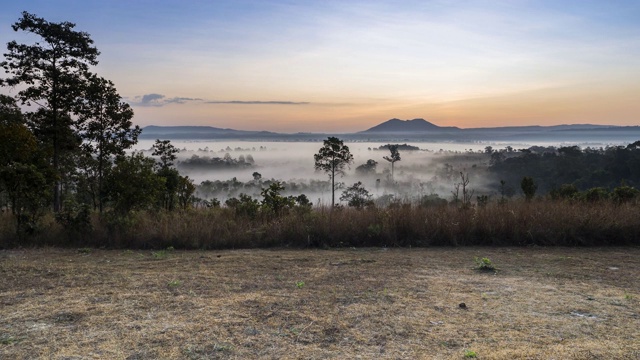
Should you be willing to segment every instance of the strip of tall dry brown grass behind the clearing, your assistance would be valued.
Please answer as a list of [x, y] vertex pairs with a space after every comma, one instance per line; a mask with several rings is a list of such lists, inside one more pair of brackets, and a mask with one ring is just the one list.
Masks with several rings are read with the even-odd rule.
[[[55, 221], [18, 240], [9, 216], [0, 223], [0, 246], [223, 249], [366, 246], [595, 246], [640, 245], [638, 204], [540, 200], [486, 207], [396, 204], [363, 210], [293, 209], [256, 217], [233, 209], [138, 212], [93, 218], [93, 229], [70, 234]], [[71, 236], [73, 235], [73, 236]]]

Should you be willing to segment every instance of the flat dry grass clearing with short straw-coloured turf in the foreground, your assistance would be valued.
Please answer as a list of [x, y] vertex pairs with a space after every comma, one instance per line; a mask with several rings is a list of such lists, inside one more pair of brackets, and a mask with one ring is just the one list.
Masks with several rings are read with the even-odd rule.
[[0, 251], [0, 358], [640, 359], [639, 267], [638, 247]]

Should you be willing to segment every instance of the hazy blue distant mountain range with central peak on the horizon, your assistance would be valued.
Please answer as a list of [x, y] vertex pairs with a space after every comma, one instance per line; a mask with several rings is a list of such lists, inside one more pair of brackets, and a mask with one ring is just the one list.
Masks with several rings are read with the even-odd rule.
[[[424, 119], [390, 119], [357, 133], [333, 134], [349, 141], [637, 141], [640, 126], [572, 124], [460, 129]], [[146, 126], [141, 139], [320, 141], [322, 133], [283, 134], [212, 126]]]

